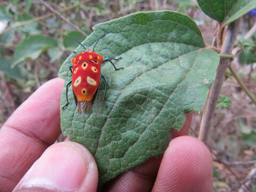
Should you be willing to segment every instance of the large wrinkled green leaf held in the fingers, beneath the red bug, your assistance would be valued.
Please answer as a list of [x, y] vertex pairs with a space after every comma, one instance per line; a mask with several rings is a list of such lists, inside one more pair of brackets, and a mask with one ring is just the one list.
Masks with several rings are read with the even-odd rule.
[[[219, 55], [205, 48], [195, 22], [172, 12], [140, 12], [100, 23], [82, 43], [101, 55], [122, 59], [102, 66], [97, 97], [89, 114], [78, 114], [72, 87], [61, 108], [61, 129], [94, 155], [99, 182], [162, 155], [171, 130], [180, 130], [189, 111], [200, 111], [214, 81]], [[76, 52], [83, 52], [79, 46]], [[71, 54], [59, 76], [71, 79]], [[66, 102], [63, 89], [61, 106]], [[105, 98], [105, 99], [104, 99]], [[106, 101], [105, 107], [103, 100]]]

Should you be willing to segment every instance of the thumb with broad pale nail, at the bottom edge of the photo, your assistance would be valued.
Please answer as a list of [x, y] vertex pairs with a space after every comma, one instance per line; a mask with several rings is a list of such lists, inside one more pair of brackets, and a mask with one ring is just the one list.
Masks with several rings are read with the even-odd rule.
[[65, 141], [47, 148], [13, 191], [96, 191], [98, 169], [82, 145]]

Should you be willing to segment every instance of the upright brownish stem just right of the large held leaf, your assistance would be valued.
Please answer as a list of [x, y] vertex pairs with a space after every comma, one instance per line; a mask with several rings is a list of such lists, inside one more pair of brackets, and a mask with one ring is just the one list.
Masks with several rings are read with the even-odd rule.
[[[230, 23], [230, 25], [228, 25], [227, 34], [222, 45], [221, 54], [231, 54], [233, 45], [236, 41], [236, 36], [238, 34], [238, 31], [239, 31], [239, 19]], [[209, 137], [211, 121], [214, 115], [215, 107], [218, 102], [221, 86], [225, 79], [225, 73], [229, 65], [230, 65], [229, 58], [220, 59], [215, 81], [213, 82], [213, 85], [209, 93], [209, 97], [207, 98], [207, 101], [205, 103], [204, 113], [203, 113], [200, 130], [199, 130], [199, 136], [198, 136], [198, 139], [203, 141], [204, 143], [207, 142]]]

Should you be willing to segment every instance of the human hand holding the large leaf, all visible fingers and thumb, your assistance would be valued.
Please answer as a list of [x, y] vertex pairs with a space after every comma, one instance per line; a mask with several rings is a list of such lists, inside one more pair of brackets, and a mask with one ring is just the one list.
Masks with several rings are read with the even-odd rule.
[[[63, 80], [42, 85], [0, 129], [0, 191], [96, 191], [98, 170], [90, 152], [60, 134]], [[212, 159], [188, 133], [191, 114], [164, 156], [150, 158], [107, 183], [105, 191], [212, 191]], [[53, 145], [52, 145], [53, 144]], [[17, 185], [18, 184], [18, 185]]]

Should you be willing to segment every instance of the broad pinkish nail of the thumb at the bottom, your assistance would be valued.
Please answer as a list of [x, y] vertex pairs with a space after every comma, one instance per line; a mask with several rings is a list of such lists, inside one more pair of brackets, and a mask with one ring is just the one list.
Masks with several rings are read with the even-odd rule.
[[72, 142], [57, 143], [48, 148], [30, 168], [21, 181], [20, 189], [74, 191], [86, 177], [87, 161], [82, 147]]

